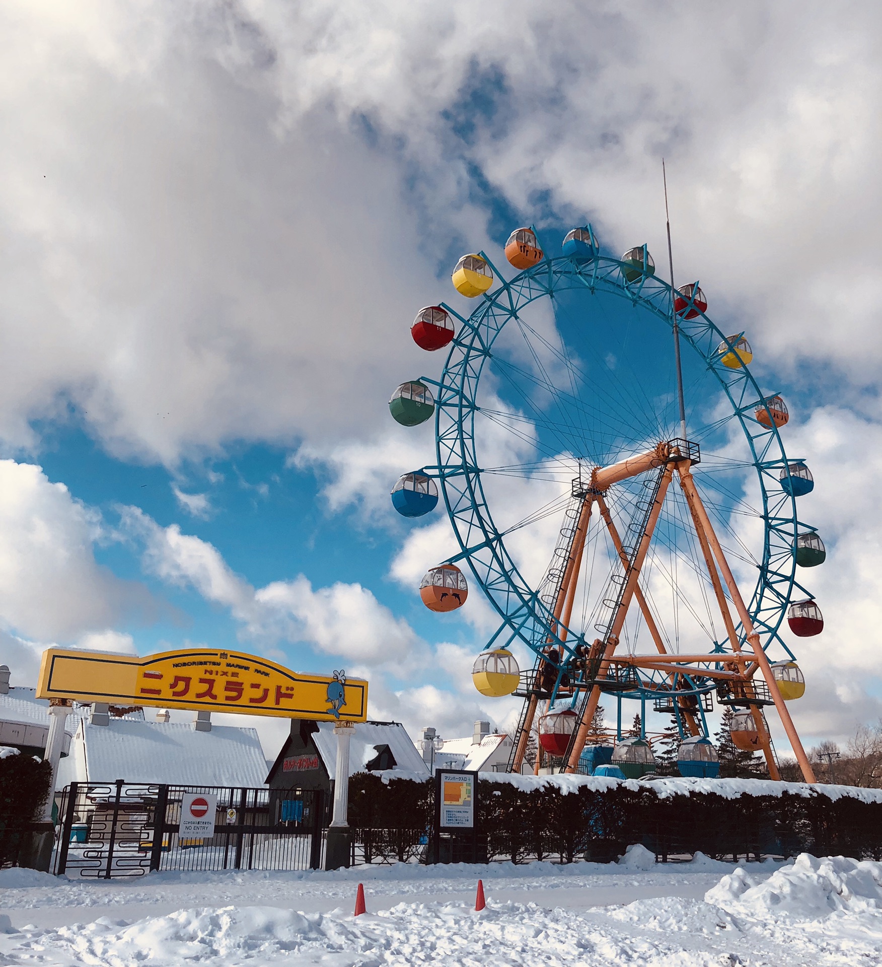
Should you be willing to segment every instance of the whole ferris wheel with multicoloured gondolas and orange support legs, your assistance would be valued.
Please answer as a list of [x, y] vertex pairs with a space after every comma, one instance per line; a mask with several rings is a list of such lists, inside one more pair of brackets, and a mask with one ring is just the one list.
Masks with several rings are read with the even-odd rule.
[[473, 680], [524, 699], [510, 768], [538, 723], [536, 770], [580, 771], [612, 696], [625, 775], [653, 767], [644, 735], [622, 736], [623, 700], [640, 702], [643, 732], [647, 711], [675, 723], [681, 773], [716, 775], [716, 699], [777, 778], [774, 707], [814, 781], [785, 702], [805, 690], [793, 638], [823, 629], [800, 580], [826, 551], [799, 518], [813, 481], [784, 451], [782, 396], [754, 379], [745, 334], [711, 321], [697, 282], [657, 278], [646, 246], [603, 255], [584, 225], [552, 255], [524, 227], [505, 256], [513, 278], [483, 251], [457, 263], [469, 315], [417, 313], [414, 341], [446, 359], [389, 408], [406, 426], [435, 418], [435, 463], [404, 473], [392, 503], [422, 517], [442, 497], [459, 546], [422, 601], [455, 610], [471, 581], [498, 614]]

